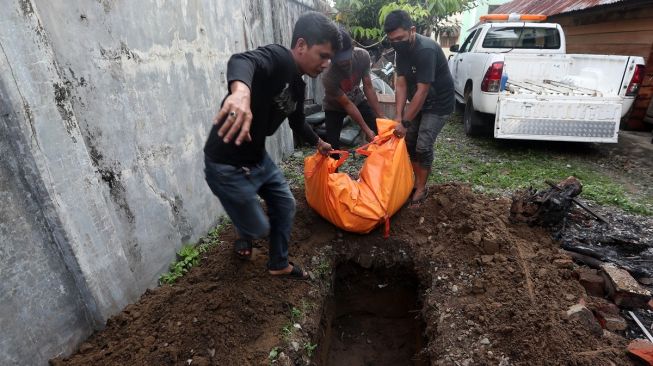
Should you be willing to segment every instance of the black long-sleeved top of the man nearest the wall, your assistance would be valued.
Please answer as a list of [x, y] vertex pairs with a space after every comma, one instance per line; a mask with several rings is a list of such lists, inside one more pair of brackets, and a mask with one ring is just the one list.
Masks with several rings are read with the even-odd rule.
[[227, 80], [229, 84], [242, 81], [249, 86], [252, 141], [236, 146], [234, 137], [225, 144], [218, 136], [221, 123], [214, 125], [204, 146], [204, 153], [211, 161], [235, 166], [258, 164], [265, 156], [265, 138], [272, 135], [286, 117], [293, 131], [309, 143], [317, 144], [318, 137], [304, 118], [306, 84], [290, 50], [271, 44], [235, 54], [227, 64]]

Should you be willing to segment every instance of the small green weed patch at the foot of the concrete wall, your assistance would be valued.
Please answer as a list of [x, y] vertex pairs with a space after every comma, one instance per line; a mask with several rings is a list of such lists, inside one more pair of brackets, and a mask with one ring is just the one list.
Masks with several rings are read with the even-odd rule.
[[201, 260], [201, 254], [222, 243], [221, 234], [229, 225], [229, 219], [220, 218], [220, 223], [211, 229], [206, 236], [201, 237], [197, 244], [184, 244], [177, 252], [177, 259], [170, 264], [169, 272], [159, 276], [159, 284], [171, 285], [183, 277], [191, 268], [197, 266]]

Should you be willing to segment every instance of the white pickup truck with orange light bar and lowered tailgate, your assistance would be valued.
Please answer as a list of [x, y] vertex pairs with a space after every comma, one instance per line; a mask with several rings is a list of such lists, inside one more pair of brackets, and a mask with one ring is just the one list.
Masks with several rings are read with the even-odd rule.
[[567, 54], [560, 25], [505, 18], [482, 18], [462, 46], [450, 49], [465, 132], [493, 127], [503, 139], [617, 142], [643, 81], [644, 59]]

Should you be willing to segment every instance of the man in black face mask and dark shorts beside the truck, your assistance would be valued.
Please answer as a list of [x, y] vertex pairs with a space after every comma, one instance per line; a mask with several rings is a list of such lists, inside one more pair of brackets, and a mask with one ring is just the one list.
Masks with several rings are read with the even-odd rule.
[[384, 31], [397, 52], [395, 120], [401, 124], [394, 132], [406, 137], [415, 173], [410, 205], [419, 205], [428, 195], [426, 181], [433, 165], [435, 139], [454, 109], [453, 79], [442, 48], [417, 34], [408, 13], [395, 10], [388, 14]]

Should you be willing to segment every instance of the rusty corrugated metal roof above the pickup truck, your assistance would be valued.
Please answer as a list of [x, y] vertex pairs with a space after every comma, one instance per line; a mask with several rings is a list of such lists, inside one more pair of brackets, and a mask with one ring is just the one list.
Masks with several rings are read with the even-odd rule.
[[492, 13], [555, 15], [624, 1], [627, 0], [514, 0], [494, 9]]

